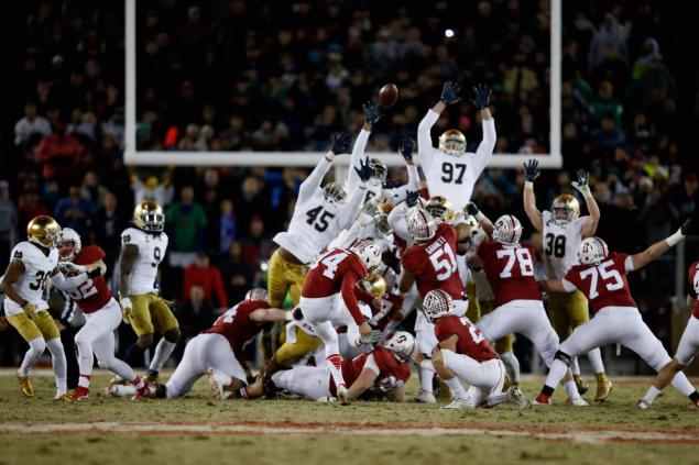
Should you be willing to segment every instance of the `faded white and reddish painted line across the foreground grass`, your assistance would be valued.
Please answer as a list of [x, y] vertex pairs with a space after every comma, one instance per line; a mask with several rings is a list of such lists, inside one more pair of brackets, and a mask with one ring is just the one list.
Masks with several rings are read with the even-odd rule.
[[506, 438], [535, 438], [547, 441], [567, 441], [576, 443], [607, 443], [607, 442], [665, 442], [665, 443], [687, 443], [697, 444], [699, 438], [696, 433], [677, 432], [648, 432], [648, 431], [566, 431], [566, 432], [542, 432], [526, 430], [489, 430], [484, 428], [392, 428], [381, 425], [371, 428], [362, 424], [356, 427], [350, 424], [323, 425], [294, 424], [265, 425], [265, 424], [215, 424], [215, 423], [192, 423], [192, 424], [157, 424], [157, 423], [70, 423], [70, 424], [10, 424], [0, 423], [0, 434], [30, 435], [30, 434], [156, 434], [156, 435], [373, 435], [373, 436], [506, 436]]

